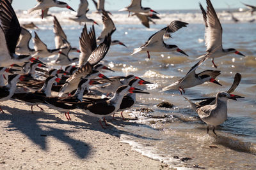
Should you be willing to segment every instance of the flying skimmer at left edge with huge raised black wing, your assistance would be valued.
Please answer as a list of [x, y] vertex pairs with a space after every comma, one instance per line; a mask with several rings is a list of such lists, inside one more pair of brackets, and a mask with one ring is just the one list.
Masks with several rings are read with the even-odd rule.
[[[29, 60], [40, 62], [40, 60], [30, 55], [17, 55], [15, 53], [21, 28], [12, 5], [6, 0], [0, 0], [0, 21], [0, 67], [19, 64]], [[43, 64], [42, 62], [40, 63]]]

